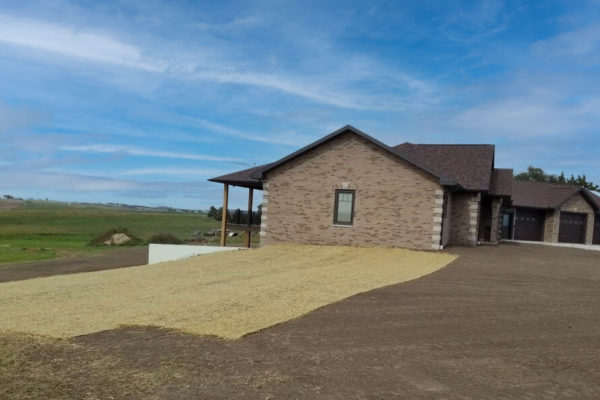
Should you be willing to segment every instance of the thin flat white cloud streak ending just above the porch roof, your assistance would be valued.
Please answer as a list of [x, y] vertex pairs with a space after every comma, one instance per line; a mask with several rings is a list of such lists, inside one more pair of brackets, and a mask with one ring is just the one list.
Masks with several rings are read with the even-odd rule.
[[133, 146], [113, 146], [104, 144], [61, 146], [61, 151], [75, 151], [83, 153], [109, 153], [109, 154], [127, 154], [142, 157], [173, 158], [181, 160], [199, 160], [199, 161], [224, 161], [243, 164], [239, 158], [221, 157], [207, 154], [189, 154], [171, 151], [149, 150]]

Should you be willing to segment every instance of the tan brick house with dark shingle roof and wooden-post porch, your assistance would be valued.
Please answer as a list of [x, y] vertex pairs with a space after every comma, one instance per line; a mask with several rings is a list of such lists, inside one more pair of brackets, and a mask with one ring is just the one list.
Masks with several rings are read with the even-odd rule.
[[[523, 226], [527, 227], [520, 219], [523, 210], [532, 206], [512, 201], [512, 170], [495, 168], [494, 153], [493, 145], [403, 143], [391, 147], [345, 126], [271, 164], [210, 179], [224, 184], [224, 210], [229, 185], [249, 189], [249, 210], [253, 190], [263, 190], [260, 226], [252, 224], [250, 211], [243, 223], [223, 213], [221, 244], [225, 245], [228, 228], [260, 231], [261, 243], [266, 245], [292, 242], [438, 250], [448, 245], [475, 246], [481, 241], [497, 243], [501, 235], [518, 238]], [[516, 191], [526, 192], [520, 186]], [[596, 204], [587, 191], [579, 193], [587, 201], [585, 212], [591, 215], [586, 217], [586, 229], [591, 226], [593, 230], [600, 201]], [[560, 240], [554, 234], [559, 230], [553, 227], [560, 225], [561, 211], [583, 207], [579, 203], [561, 203], [551, 216], [544, 214], [544, 221], [549, 222], [543, 230], [549, 233], [540, 238]]]

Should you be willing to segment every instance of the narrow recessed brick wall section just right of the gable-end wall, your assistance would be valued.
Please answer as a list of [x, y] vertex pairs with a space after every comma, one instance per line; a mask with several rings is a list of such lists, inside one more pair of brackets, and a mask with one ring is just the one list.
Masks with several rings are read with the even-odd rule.
[[477, 245], [480, 193], [452, 193], [452, 211], [449, 244], [459, 246]]

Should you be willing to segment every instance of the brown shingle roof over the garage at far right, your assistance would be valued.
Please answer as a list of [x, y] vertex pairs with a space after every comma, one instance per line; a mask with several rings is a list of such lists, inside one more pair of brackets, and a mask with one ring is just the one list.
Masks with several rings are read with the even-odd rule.
[[517, 207], [558, 208], [577, 193], [600, 209], [600, 197], [580, 186], [518, 180], [513, 181], [512, 203]]

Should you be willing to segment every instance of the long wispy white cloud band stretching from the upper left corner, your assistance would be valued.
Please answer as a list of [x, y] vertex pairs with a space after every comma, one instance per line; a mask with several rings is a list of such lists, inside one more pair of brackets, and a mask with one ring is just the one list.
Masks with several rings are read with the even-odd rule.
[[[253, 20], [251, 22], [255, 23]], [[240, 58], [239, 54], [235, 55], [233, 51], [237, 45], [233, 42], [207, 40], [206, 43], [195, 45], [193, 48], [172, 50], [173, 44], [162, 38], [155, 38], [152, 48], [144, 48], [123, 42], [116, 36], [98, 30], [0, 14], [0, 42], [6, 44], [88, 62], [150, 71], [171, 79], [272, 89], [340, 108], [390, 110], [414, 103], [390, 101], [389, 98], [382, 99], [380, 93], [369, 94], [368, 90], [351, 89], [353, 85], [362, 85], [368, 81], [378, 82], [378, 87], [400, 83], [408, 89], [409, 94], [416, 96], [429, 95], [433, 87], [405, 73], [383, 71], [377, 67], [377, 63], [365, 60], [364, 57], [359, 57], [358, 67], [351, 65], [352, 59], [348, 57], [344, 57], [344, 61], [341, 62], [341, 54], [327, 54], [320, 55], [319, 60], [311, 63], [313, 66], [318, 65], [320, 72], [302, 72], [301, 68], [296, 72], [273, 68], [268, 71], [269, 68], [264, 62], [257, 62], [260, 57], [265, 56], [264, 54], [256, 59]], [[228, 52], [232, 54], [227, 55]], [[330, 49], [328, 53], [333, 52]], [[45, 59], [45, 62], [48, 61]], [[335, 73], [332, 72], [332, 68]], [[381, 76], [380, 72], [386, 76]], [[405, 94], [402, 92], [396, 97], [404, 97]]]

